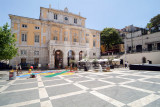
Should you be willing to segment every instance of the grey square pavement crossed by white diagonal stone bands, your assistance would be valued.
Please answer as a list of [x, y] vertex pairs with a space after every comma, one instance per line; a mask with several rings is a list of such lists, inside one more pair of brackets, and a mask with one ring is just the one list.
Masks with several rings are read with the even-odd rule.
[[114, 69], [0, 78], [0, 107], [160, 107], [160, 72]]

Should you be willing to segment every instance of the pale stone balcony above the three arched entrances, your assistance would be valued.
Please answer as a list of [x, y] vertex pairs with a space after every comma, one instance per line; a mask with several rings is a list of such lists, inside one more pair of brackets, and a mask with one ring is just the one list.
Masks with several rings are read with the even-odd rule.
[[48, 46], [68, 46], [68, 47], [85, 47], [85, 48], [89, 48], [89, 43], [50, 40], [49, 43], [48, 43]]

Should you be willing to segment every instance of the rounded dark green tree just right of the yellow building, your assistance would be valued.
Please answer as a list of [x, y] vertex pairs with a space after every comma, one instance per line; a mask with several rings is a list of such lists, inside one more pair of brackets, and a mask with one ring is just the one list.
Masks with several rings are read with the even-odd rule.
[[111, 46], [122, 43], [118, 31], [114, 28], [105, 28], [101, 32], [101, 44], [106, 45], [109, 49]]

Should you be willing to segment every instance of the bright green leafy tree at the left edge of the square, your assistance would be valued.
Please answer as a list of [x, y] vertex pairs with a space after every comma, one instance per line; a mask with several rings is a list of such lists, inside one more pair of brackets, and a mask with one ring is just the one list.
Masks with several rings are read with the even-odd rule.
[[15, 35], [8, 27], [8, 23], [0, 27], [0, 60], [10, 60], [17, 55]]

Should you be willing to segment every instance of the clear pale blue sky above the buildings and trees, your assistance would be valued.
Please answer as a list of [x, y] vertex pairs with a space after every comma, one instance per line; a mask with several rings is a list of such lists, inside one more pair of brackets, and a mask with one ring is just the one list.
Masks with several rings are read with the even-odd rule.
[[8, 14], [39, 18], [40, 7], [69, 11], [86, 17], [86, 27], [103, 30], [105, 27], [122, 29], [133, 24], [145, 27], [160, 14], [160, 0], [1, 0], [0, 26], [10, 24]]

